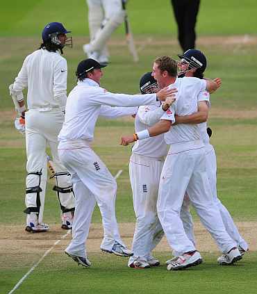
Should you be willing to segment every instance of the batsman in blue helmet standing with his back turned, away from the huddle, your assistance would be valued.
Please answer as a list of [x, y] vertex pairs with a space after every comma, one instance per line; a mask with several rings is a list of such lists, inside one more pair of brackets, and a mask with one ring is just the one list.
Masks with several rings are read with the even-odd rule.
[[[63, 48], [72, 45], [63, 24], [51, 22], [42, 31], [40, 49], [28, 55], [15, 82], [10, 85], [10, 95], [15, 108], [25, 119], [26, 129], [26, 231], [48, 231], [44, 224], [44, 197], [47, 183], [47, 154], [49, 145], [56, 171], [56, 190], [62, 211], [62, 228], [71, 229], [74, 213], [74, 195], [70, 175], [58, 158], [57, 136], [64, 121], [67, 100], [67, 61]], [[22, 90], [28, 88], [27, 105]]]

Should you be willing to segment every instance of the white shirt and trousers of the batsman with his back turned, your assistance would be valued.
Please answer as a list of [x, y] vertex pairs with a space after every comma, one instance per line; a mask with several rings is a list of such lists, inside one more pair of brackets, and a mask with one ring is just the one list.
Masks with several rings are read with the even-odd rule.
[[[17, 92], [28, 88], [28, 111], [25, 113], [28, 172], [26, 188], [40, 186], [42, 192], [40, 199], [37, 193], [26, 194], [25, 203], [31, 212], [38, 213], [40, 210], [38, 221], [42, 223], [47, 183], [47, 145], [51, 148], [56, 172], [67, 172], [60, 163], [57, 151], [57, 136], [63, 125], [63, 111], [67, 100], [67, 61], [58, 51], [49, 52], [46, 49], [34, 51], [25, 58], [13, 88]], [[29, 174], [31, 172], [42, 172], [42, 175], [39, 177], [38, 174]], [[57, 186], [70, 187], [70, 177], [67, 175], [58, 177]], [[63, 209], [74, 209], [72, 193], [60, 193], [59, 198]]]

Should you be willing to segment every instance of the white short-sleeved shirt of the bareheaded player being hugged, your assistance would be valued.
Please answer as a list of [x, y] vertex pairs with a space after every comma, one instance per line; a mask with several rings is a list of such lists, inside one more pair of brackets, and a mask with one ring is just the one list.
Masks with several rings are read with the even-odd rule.
[[[177, 88], [176, 101], [172, 104], [173, 115], [191, 115], [198, 111], [198, 95], [206, 90], [206, 81], [194, 77], [176, 78], [169, 88]], [[206, 97], [208, 101], [208, 97]], [[174, 120], [167, 113], [161, 117], [163, 120]], [[200, 140], [199, 124], [176, 124], [165, 133], [165, 142], [168, 145]]]

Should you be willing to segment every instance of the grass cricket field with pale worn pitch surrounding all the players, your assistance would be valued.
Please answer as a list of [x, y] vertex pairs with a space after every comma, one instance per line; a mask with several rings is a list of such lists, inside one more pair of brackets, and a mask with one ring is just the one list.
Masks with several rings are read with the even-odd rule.
[[[85, 58], [81, 49], [88, 40], [84, 1], [13, 1], [2, 3], [0, 21], [0, 293], [12, 290], [19, 279], [42, 259], [15, 293], [256, 293], [257, 275], [257, 51], [254, 0], [201, 1], [197, 32], [199, 49], [208, 56], [206, 76], [222, 78], [222, 88], [212, 96], [209, 125], [217, 153], [217, 190], [244, 238], [250, 252], [237, 266], [219, 267], [217, 247], [199, 226], [194, 214], [196, 236], [204, 263], [183, 272], [167, 272], [165, 260], [170, 250], [165, 240], [155, 256], [162, 266], [149, 270], [132, 270], [126, 259], [103, 254], [101, 217], [96, 209], [88, 240], [92, 268], [83, 269], [63, 254], [71, 238], [60, 229], [58, 203], [49, 181], [44, 221], [47, 234], [25, 234], [24, 179], [26, 154], [24, 138], [15, 131], [15, 112], [8, 96], [24, 56], [40, 43], [42, 27], [49, 21], [60, 21], [72, 29], [74, 48], [65, 50], [69, 67], [68, 90], [76, 83], [74, 71]], [[131, 19], [140, 63], [133, 63], [119, 28], [110, 40], [111, 63], [104, 70], [102, 85], [113, 92], [138, 92], [140, 76], [151, 70], [156, 56], [176, 56], [181, 51], [176, 41], [176, 26], [168, 0], [129, 1]], [[36, 17], [35, 17], [36, 16]], [[144, 19], [144, 22], [142, 22]], [[95, 131], [94, 150], [101, 156], [117, 179], [117, 219], [122, 237], [131, 245], [133, 236], [133, 203], [128, 180], [130, 148], [121, 147], [119, 138], [133, 131], [132, 118], [99, 120]], [[53, 247], [56, 240], [60, 242]]]

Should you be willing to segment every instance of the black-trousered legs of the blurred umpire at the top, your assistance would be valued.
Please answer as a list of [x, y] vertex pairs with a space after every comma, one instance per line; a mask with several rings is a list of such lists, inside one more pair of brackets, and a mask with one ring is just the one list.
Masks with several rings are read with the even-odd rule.
[[183, 51], [194, 48], [200, 0], [171, 0], [176, 24], [178, 25], [179, 44]]

